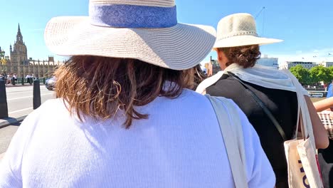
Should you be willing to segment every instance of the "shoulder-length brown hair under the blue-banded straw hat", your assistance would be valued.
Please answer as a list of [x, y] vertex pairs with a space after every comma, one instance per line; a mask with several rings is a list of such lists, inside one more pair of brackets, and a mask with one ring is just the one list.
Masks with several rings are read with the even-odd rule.
[[[55, 73], [56, 97], [63, 98], [70, 114], [102, 118], [114, 117], [117, 110], [126, 115], [124, 125], [147, 119], [134, 106], [147, 105], [158, 96], [177, 98], [184, 88], [191, 88], [193, 68], [174, 71], [136, 59], [100, 56], [73, 56]], [[171, 88], [165, 90], [164, 83]]]

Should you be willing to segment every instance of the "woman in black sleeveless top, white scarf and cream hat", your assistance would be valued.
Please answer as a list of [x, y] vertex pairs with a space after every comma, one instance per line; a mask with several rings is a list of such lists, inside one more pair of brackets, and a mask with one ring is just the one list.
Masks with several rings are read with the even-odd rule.
[[[260, 58], [259, 45], [280, 41], [259, 37], [250, 14], [224, 17], [218, 23], [214, 46], [223, 71], [204, 80], [196, 91], [231, 98], [239, 105], [258, 132], [275, 171], [276, 187], [288, 187], [283, 143], [292, 138], [296, 128], [296, 88], [282, 71], [255, 64]], [[302, 92], [307, 95], [306, 90]], [[317, 148], [325, 148], [328, 145], [326, 132], [308, 96], [306, 100]]]

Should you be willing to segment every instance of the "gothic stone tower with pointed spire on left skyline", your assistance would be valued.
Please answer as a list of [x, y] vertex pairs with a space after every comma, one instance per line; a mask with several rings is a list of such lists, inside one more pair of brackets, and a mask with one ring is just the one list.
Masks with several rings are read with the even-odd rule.
[[[14, 49], [10, 46], [11, 65], [16, 67], [23, 65], [28, 60], [28, 53], [26, 50], [26, 44], [23, 42], [23, 36], [18, 23], [18, 31], [16, 34], [16, 42], [14, 43]], [[13, 70], [16, 71], [16, 70]]]

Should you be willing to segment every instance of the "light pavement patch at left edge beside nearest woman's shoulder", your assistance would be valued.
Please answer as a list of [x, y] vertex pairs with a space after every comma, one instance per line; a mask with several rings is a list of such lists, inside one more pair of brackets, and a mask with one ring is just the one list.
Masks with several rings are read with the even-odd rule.
[[7, 148], [9, 147], [9, 143], [11, 142], [11, 138], [14, 136], [20, 124], [21, 123], [9, 125], [8, 127], [0, 129], [0, 155], [6, 152]]

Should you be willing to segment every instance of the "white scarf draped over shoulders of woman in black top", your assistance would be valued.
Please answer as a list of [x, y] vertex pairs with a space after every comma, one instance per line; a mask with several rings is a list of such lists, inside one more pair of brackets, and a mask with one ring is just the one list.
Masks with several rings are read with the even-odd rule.
[[[289, 77], [287, 70], [277, 70], [276, 68], [270, 68], [268, 66], [255, 65], [252, 68], [243, 68], [237, 63], [233, 63], [228, 66], [224, 71], [218, 72], [211, 78], [203, 80], [203, 82], [198, 86], [196, 92], [205, 93], [206, 88], [216, 83], [223, 74], [231, 72], [236, 75], [240, 80], [248, 83], [253, 83], [255, 85], [260, 85], [264, 88], [271, 88], [277, 90], [289, 90], [296, 92], [296, 87], [292, 83], [292, 79]], [[307, 95], [307, 90], [303, 90], [303, 94]]]

